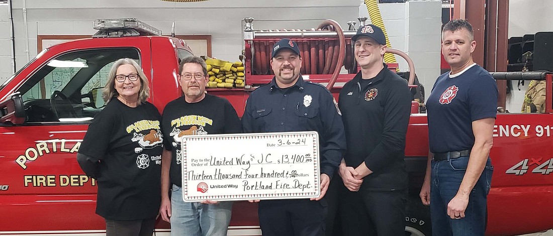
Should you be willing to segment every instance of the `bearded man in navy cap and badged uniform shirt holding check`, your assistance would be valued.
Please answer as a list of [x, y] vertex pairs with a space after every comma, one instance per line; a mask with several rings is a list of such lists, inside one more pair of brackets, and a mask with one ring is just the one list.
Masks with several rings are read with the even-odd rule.
[[259, 224], [266, 236], [322, 236], [327, 214], [325, 192], [346, 149], [342, 119], [331, 93], [322, 85], [304, 81], [299, 74], [301, 57], [294, 41], [278, 41], [270, 64], [275, 77], [249, 96], [242, 117], [244, 133], [318, 132], [321, 195], [312, 201], [260, 201]]

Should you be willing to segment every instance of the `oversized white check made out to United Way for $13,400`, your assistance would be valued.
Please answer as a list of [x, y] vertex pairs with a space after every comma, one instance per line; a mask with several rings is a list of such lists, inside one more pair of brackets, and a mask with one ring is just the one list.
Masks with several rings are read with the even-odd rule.
[[181, 148], [186, 202], [320, 195], [317, 132], [184, 136]]

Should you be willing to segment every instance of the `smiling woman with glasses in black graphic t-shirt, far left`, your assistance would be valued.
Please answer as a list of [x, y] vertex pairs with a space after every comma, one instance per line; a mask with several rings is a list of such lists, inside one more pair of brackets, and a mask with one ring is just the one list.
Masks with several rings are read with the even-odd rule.
[[148, 79], [133, 59], [119, 59], [103, 90], [106, 107], [82, 140], [77, 161], [98, 183], [96, 213], [106, 233], [148, 235], [160, 197], [161, 133], [158, 109], [146, 101]]

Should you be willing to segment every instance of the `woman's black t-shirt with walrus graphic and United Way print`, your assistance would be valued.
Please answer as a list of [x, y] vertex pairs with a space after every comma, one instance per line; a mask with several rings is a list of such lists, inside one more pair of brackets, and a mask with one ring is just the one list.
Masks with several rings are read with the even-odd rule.
[[152, 103], [128, 107], [117, 98], [88, 126], [79, 153], [100, 161], [96, 213], [116, 221], [159, 211], [161, 116]]

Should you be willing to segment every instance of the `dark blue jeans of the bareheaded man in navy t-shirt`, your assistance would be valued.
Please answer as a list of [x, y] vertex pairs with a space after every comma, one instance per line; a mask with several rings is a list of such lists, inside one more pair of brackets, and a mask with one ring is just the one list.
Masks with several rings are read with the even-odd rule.
[[468, 156], [442, 161], [432, 160], [430, 184], [430, 214], [432, 235], [484, 235], [487, 217], [487, 195], [492, 181], [493, 166], [488, 158], [486, 167], [474, 185], [465, 210], [465, 218], [447, 216], [447, 204], [457, 194], [467, 170]]

